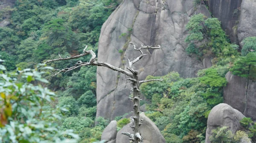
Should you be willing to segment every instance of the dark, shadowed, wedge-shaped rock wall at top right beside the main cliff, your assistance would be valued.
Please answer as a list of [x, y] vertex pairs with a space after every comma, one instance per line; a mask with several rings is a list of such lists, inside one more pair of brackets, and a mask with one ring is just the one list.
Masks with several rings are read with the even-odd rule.
[[226, 31], [231, 42], [236, 43], [238, 43], [237, 26], [241, 2], [242, 0], [208, 0], [212, 15], [221, 21], [221, 27]]

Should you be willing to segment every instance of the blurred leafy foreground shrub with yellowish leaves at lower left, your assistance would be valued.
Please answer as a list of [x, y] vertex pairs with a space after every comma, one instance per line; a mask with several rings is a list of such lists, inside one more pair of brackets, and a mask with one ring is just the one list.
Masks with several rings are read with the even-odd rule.
[[[52, 69], [37, 66], [8, 73], [0, 65], [0, 138], [5, 143], [76, 143], [79, 136], [67, 130], [62, 132], [57, 121], [61, 120], [59, 107], [49, 106], [55, 94], [39, 83], [44, 72]], [[19, 74], [18, 74], [19, 73]], [[38, 85], [31, 84], [32, 81]], [[67, 139], [66, 136], [72, 139]]]

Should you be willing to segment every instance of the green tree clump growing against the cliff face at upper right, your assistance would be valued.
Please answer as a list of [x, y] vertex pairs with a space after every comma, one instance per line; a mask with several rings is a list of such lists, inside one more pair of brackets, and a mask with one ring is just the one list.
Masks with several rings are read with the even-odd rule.
[[185, 42], [189, 45], [187, 53], [195, 53], [198, 56], [217, 57], [236, 55], [238, 45], [229, 43], [225, 32], [221, 29], [221, 22], [217, 18], [207, 18], [204, 14], [196, 14], [191, 17], [186, 29], [189, 35]]

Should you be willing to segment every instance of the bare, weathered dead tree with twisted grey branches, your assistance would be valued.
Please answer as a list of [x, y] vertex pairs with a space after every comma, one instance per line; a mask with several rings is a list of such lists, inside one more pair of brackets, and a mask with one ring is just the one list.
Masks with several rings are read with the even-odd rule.
[[74, 70], [76, 68], [82, 67], [82, 66], [87, 66], [87, 65], [95, 65], [95, 66], [103, 66], [103, 67], [108, 67], [111, 70], [115, 70], [118, 71], [120, 73], [125, 74], [126, 76], [128, 76], [128, 79], [123, 79], [123, 80], [128, 80], [132, 82], [132, 87], [131, 90], [133, 92], [133, 98], [130, 98], [131, 101], [133, 101], [133, 113], [134, 115], [131, 118], [131, 121], [133, 123], [133, 126], [131, 126], [131, 128], [133, 128], [134, 130], [134, 134], [132, 133], [128, 133], [128, 132], [124, 132], [122, 133], [123, 135], [127, 135], [129, 137], [129, 140], [132, 141], [132, 143], [142, 143], [143, 138], [141, 137], [141, 133], [140, 133], [140, 125], [142, 125], [143, 123], [141, 123], [141, 121], [143, 121], [143, 119], [140, 119], [140, 84], [145, 83], [145, 82], [150, 82], [150, 81], [162, 81], [160, 79], [152, 79], [152, 80], [142, 80], [139, 81], [139, 76], [138, 76], [138, 71], [134, 70], [132, 68], [132, 65], [135, 64], [136, 62], [138, 62], [141, 58], [143, 58], [143, 56], [145, 56], [146, 54], [143, 54], [142, 49], [160, 49], [161, 46], [158, 45], [157, 47], [153, 47], [153, 46], [143, 46], [141, 45], [140, 48], [136, 48], [136, 46], [130, 42], [131, 45], [133, 45], [134, 50], [137, 50], [141, 53], [140, 56], [138, 56], [136, 59], [134, 59], [133, 61], [130, 61], [130, 59], [128, 59], [128, 63], [129, 66], [126, 67], [128, 69], [128, 71], [123, 70], [121, 68], [115, 67], [111, 64], [105, 63], [105, 62], [98, 62], [96, 61], [96, 54], [93, 52], [93, 50], [86, 50], [87, 46], [85, 46], [83, 53], [81, 53], [78, 56], [73, 56], [73, 57], [67, 57], [67, 58], [62, 58], [59, 55], [59, 59], [52, 59], [52, 60], [48, 60], [46, 62], [43, 62], [44, 64], [48, 63], [48, 62], [54, 62], [54, 61], [61, 61], [61, 60], [69, 60], [69, 59], [77, 59], [81, 56], [85, 56], [90, 54], [92, 57], [90, 59], [89, 62], [82, 62], [82, 61], [78, 61], [73, 67], [67, 67], [64, 68], [62, 70], [59, 69], [54, 69], [52, 70], [52, 76], [56, 76], [59, 73], [66, 73], [70, 70]]

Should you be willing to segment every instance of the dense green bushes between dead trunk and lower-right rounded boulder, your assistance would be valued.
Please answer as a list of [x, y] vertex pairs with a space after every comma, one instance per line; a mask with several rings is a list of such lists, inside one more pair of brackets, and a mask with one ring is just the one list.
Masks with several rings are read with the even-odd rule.
[[201, 77], [191, 79], [182, 79], [178, 73], [148, 76], [147, 79], [161, 78], [163, 82], [141, 86], [150, 101], [146, 115], [155, 122], [168, 143], [172, 143], [173, 137], [185, 143], [204, 140], [209, 111], [222, 103], [222, 87], [227, 83], [225, 74], [218, 73], [214, 67], [199, 73]]

